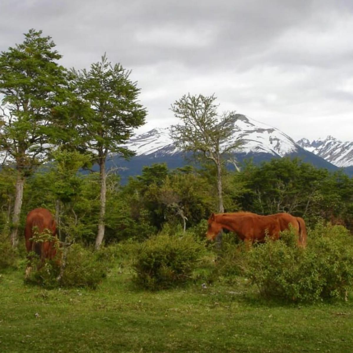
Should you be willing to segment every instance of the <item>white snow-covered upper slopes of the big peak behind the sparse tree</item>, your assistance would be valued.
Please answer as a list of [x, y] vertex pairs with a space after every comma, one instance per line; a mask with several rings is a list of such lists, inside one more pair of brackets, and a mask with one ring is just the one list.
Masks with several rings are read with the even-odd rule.
[[[221, 145], [225, 148], [235, 140], [241, 139], [243, 145], [235, 152], [266, 153], [283, 157], [298, 151], [300, 148], [292, 138], [275, 127], [250, 119], [242, 114], [235, 114], [232, 123], [233, 134], [231, 139]], [[170, 137], [170, 127], [155, 128], [151, 131], [133, 137], [125, 145], [136, 152], [137, 156], [147, 155], [173, 155], [180, 150]]]

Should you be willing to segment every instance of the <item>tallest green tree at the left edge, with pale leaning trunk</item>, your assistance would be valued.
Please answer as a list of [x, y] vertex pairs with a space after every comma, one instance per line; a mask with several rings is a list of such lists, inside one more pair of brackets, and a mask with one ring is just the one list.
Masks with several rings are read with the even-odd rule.
[[67, 72], [51, 37], [29, 30], [22, 44], [0, 55], [0, 149], [17, 171], [11, 243], [18, 225], [25, 178], [46, 158], [55, 107], [67, 96]]

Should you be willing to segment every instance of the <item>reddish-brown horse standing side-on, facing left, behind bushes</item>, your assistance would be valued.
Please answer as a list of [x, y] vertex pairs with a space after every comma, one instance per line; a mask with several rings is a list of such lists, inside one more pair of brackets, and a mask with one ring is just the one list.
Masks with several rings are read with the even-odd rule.
[[306, 245], [305, 222], [300, 217], [294, 217], [289, 213], [276, 213], [269, 216], [261, 216], [251, 212], [235, 212], [211, 214], [208, 219], [206, 237], [214, 240], [222, 229], [228, 229], [238, 234], [244, 241], [264, 241], [266, 235], [273, 239], [279, 239], [280, 232], [289, 229], [290, 225], [298, 235], [298, 245]]

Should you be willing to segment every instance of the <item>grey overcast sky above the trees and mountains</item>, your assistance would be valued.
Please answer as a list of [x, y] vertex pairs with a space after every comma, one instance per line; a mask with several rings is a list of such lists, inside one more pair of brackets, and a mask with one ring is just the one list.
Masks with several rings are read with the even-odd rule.
[[295, 140], [353, 140], [352, 0], [0, 0], [0, 50], [30, 28], [66, 67], [106, 52], [131, 69], [148, 109], [140, 131], [175, 123], [183, 94], [215, 93]]

